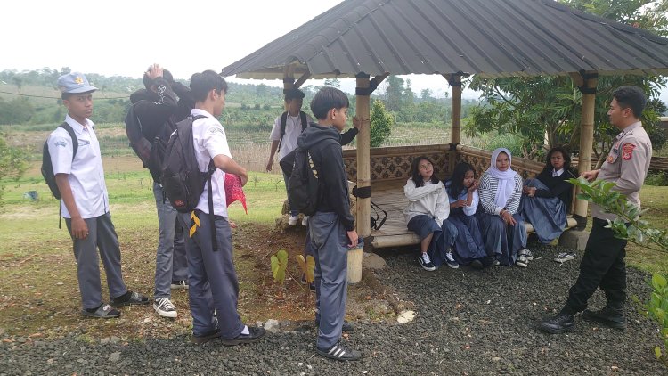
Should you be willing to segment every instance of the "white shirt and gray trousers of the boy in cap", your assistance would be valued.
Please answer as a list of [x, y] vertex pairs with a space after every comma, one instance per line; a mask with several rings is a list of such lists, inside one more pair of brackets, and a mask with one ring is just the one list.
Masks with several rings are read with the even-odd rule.
[[[72, 159], [72, 138], [62, 127], [56, 128], [49, 135], [47, 143], [53, 173], [68, 175], [77, 209], [88, 226], [89, 233], [85, 239], [72, 239], [81, 299], [85, 309], [92, 309], [102, 304], [96, 248], [100, 249], [110, 297], [117, 298], [126, 294], [127, 288], [121, 274], [118, 236], [111, 223], [109, 194], [104, 183], [100, 143], [95, 135], [94, 124], [89, 119], [86, 119], [86, 125], [79, 124], [69, 115], [65, 121], [77, 135], [78, 149], [75, 158]], [[72, 220], [64, 200], [61, 201], [61, 211], [71, 233]]]

